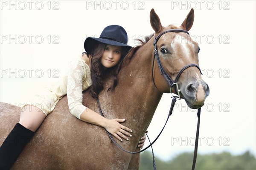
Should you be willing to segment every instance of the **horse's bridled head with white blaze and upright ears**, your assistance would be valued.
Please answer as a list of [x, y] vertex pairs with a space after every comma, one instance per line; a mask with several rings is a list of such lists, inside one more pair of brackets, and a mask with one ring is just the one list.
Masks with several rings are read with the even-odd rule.
[[[209, 87], [201, 78], [201, 71], [198, 67], [200, 48], [187, 32], [192, 27], [193, 21], [194, 10], [191, 9], [181, 26], [163, 27], [154, 9], [151, 10], [150, 23], [155, 31], [155, 51], [160, 60], [158, 65], [159, 63], [163, 65], [163, 70], [165, 70], [163, 72], [166, 72], [169, 78], [165, 79], [163, 75], [160, 75], [157, 65], [154, 67], [153, 74], [158, 90], [169, 93], [170, 86], [172, 86], [171, 91], [175, 94], [179, 93], [190, 108], [200, 108], [209, 95]], [[171, 80], [168, 81], [168, 79]], [[175, 82], [177, 85], [173, 84]]]

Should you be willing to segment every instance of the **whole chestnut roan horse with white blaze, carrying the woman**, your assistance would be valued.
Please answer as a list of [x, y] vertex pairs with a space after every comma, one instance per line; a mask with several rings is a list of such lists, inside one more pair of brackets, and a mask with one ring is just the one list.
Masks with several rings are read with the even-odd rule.
[[[189, 39], [186, 32], [166, 32], [159, 37], [154, 50], [154, 38], [169, 29], [189, 31], [194, 21], [191, 9], [180, 26], [162, 26], [160, 18], [150, 11], [150, 23], [154, 34], [140, 40], [125, 56], [117, 76], [118, 85], [112, 85], [111, 77], [106, 76], [104, 89], [99, 94], [102, 112], [108, 119], [125, 118], [122, 123], [133, 130], [129, 141], [116, 142], [129, 151], [139, 151], [137, 144], [148, 128], [163, 93], [174, 93], [185, 99], [190, 108], [200, 108], [209, 95], [209, 86], [201, 78], [200, 70], [191, 66], [183, 70], [177, 79], [177, 88], [171, 88], [161, 75], [154, 54], [158, 53], [163, 68], [172, 79], [185, 65], [198, 65], [198, 43]], [[180, 42], [186, 39], [186, 43]], [[184, 73], [190, 73], [193, 75]], [[83, 92], [83, 105], [100, 113], [96, 99]], [[0, 137], [1, 142], [19, 121], [18, 107], [1, 103]], [[34, 137], [18, 157], [12, 170], [52, 170], [52, 169], [93, 169], [127, 170], [139, 169], [140, 154], [126, 153], [109, 139], [104, 128], [83, 122], [72, 116], [64, 96], [56, 105]]]

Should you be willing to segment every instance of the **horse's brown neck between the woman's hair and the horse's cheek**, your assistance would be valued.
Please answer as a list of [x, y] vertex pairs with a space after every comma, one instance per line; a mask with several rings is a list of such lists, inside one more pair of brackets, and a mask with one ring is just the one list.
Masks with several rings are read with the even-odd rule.
[[152, 44], [149, 40], [138, 49], [130, 63], [121, 69], [115, 90], [104, 93], [102, 99], [102, 103], [112, 103], [114, 107], [108, 107], [108, 115], [112, 115], [108, 118], [126, 118], [126, 125], [137, 134], [143, 133], [150, 124], [162, 96], [152, 80]]

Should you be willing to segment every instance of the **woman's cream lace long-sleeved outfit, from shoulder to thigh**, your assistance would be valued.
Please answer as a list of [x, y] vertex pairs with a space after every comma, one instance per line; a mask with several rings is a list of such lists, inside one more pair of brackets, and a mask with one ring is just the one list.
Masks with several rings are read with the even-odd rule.
[[81, 113], [86, 109], [82, 104], [83, 91], [89, 88], [91, 84], [89, 65], [84, 59], [74, 59], [70, 62], [70, 69], [66, 76], [51, 85], [47, 85], [25, 105], [34, 105], [47, 115], [53, 111], [58, 101], [67, 94], [70, 113], [80, 119]]

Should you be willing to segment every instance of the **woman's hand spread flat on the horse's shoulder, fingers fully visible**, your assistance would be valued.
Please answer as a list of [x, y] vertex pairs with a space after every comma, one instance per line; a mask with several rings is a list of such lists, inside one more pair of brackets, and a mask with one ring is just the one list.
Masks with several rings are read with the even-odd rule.
[[[111, 119], [106, 122], [105, 129], [108, 130], [118, 140], [122, 141], [122, 138], [129, 140], [127, 136], [131, 137], [132, 130], [128, 127], [121, 125], [121, 122], [125, 122], [125, 119]], [[126, 135], [126, 136], [125, 136]], [[122, 138], [121, 138], [122, 137]]]

